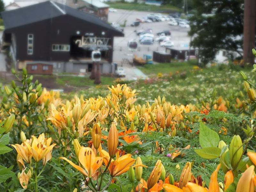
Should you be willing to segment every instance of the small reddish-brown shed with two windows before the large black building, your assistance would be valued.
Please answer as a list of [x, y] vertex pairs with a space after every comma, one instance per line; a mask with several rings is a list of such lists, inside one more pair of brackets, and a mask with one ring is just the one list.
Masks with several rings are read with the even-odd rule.
[[52, 75], [52, 65], [44, 62], [27, 63], [28, 74]]

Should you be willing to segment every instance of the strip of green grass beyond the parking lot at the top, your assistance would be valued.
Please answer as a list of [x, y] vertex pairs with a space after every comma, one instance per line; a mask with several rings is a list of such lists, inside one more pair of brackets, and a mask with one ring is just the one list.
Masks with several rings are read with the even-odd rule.
[[115, 9], [136, 10], [136, 11], [180, 11], [180, 8], [173, 5], [147, 5], [138, 3], [111, 2], [108, 5]]

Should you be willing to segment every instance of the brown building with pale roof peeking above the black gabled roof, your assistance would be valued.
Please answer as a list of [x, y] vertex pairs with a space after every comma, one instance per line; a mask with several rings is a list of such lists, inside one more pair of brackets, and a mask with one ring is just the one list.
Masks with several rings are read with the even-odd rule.
[[108, 21], [109, 5], [100, 0], [66, 0], [69, 7], [97, 15], [101, 20]]

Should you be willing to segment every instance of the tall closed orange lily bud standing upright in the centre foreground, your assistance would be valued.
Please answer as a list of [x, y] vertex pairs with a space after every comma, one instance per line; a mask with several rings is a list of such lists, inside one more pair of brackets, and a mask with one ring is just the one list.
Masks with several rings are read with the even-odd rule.
[[113, 157], [116, 154], [116, 149], [118, 145], [118, 132], [116, 125], [112, 124], [108, 132], [108, 154]]

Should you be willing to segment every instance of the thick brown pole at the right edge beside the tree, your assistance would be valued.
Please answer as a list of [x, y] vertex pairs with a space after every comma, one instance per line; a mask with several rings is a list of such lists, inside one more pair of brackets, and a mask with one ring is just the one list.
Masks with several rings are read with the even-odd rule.
[[256, 1], [244, 0], [244, 64], [254, 63], [252, 49], [255, 48]]

